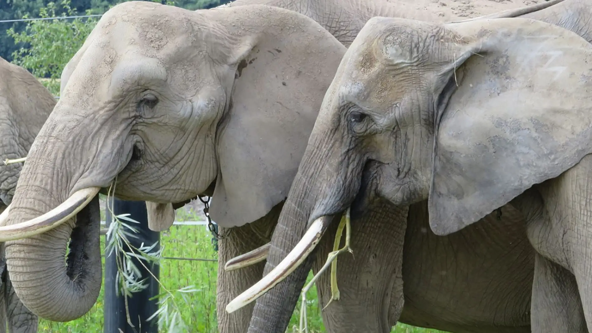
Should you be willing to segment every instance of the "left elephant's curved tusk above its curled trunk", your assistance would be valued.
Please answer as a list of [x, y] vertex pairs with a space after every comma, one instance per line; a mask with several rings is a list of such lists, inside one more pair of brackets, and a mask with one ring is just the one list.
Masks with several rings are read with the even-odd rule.
[[[101, 187], [88, 187], [78, 190], [70, 198], [46, 214], [37, 216], [30, 221], [13, 225], [2, 225], [0, 227], [0, 242], [29, 238], [56, 228], [58, 225], [75, 216], [82, 208], [85, 208], [92, 198], [95, 197], [96, 193], [99, 193], [100, 189]], [[8, 211], [8, 208], [4, 212], [6, 211]], [[2, 215], [4, 215], [4, 212]]]

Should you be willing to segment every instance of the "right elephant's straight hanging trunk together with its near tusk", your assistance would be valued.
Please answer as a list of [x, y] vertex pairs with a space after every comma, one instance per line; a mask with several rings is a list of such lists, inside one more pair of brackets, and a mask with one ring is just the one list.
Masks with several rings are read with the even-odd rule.
[[363, 163], [352, 163], [341, 150], [323, 147], [334, 141], [327, 135], [311, 136], [272, 236], [263, 279], [227, 307], [233, 311], [269, 290], [256, 302], [249, 333], [285, 332], [312, 267], [314, 246], [327, 227], [339, 221], [359, 189], [359, 180], [350, 176], [361, 174], [357, 166]]

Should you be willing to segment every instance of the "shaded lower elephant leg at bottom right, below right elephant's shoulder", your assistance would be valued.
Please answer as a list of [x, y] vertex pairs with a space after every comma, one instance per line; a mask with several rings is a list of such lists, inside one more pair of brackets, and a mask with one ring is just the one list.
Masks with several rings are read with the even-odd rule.
[[536, 254], [532, 332], [587, 333], [578, 285], [570, 271]]

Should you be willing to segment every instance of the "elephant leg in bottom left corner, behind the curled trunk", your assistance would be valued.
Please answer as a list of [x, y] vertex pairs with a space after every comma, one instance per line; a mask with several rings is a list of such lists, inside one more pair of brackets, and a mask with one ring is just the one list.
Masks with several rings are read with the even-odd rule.
[[8, 271], [5, 270], [5, 303], [6, 318], [8, 321], [9, 333], [36, 333], [38, 318], [18, 299], [17, 294], [12, 288], [12, 283], [8, 277]]

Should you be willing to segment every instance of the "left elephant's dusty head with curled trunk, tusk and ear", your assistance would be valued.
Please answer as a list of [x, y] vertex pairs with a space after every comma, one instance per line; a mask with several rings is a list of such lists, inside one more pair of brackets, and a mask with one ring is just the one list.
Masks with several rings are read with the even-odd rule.
[[8, 270], [22, 302], [53, 321], [95, 303], [96, 194], [111, 186], [118, 198], [151, 202], [149, 220], [213, 185], [219, 225], [265, 215], [287, 196], [344, 53], [316, 22], [281, 8], [110, 9], [62, 73], [10, 232], [0, 232], [11, 239]]

